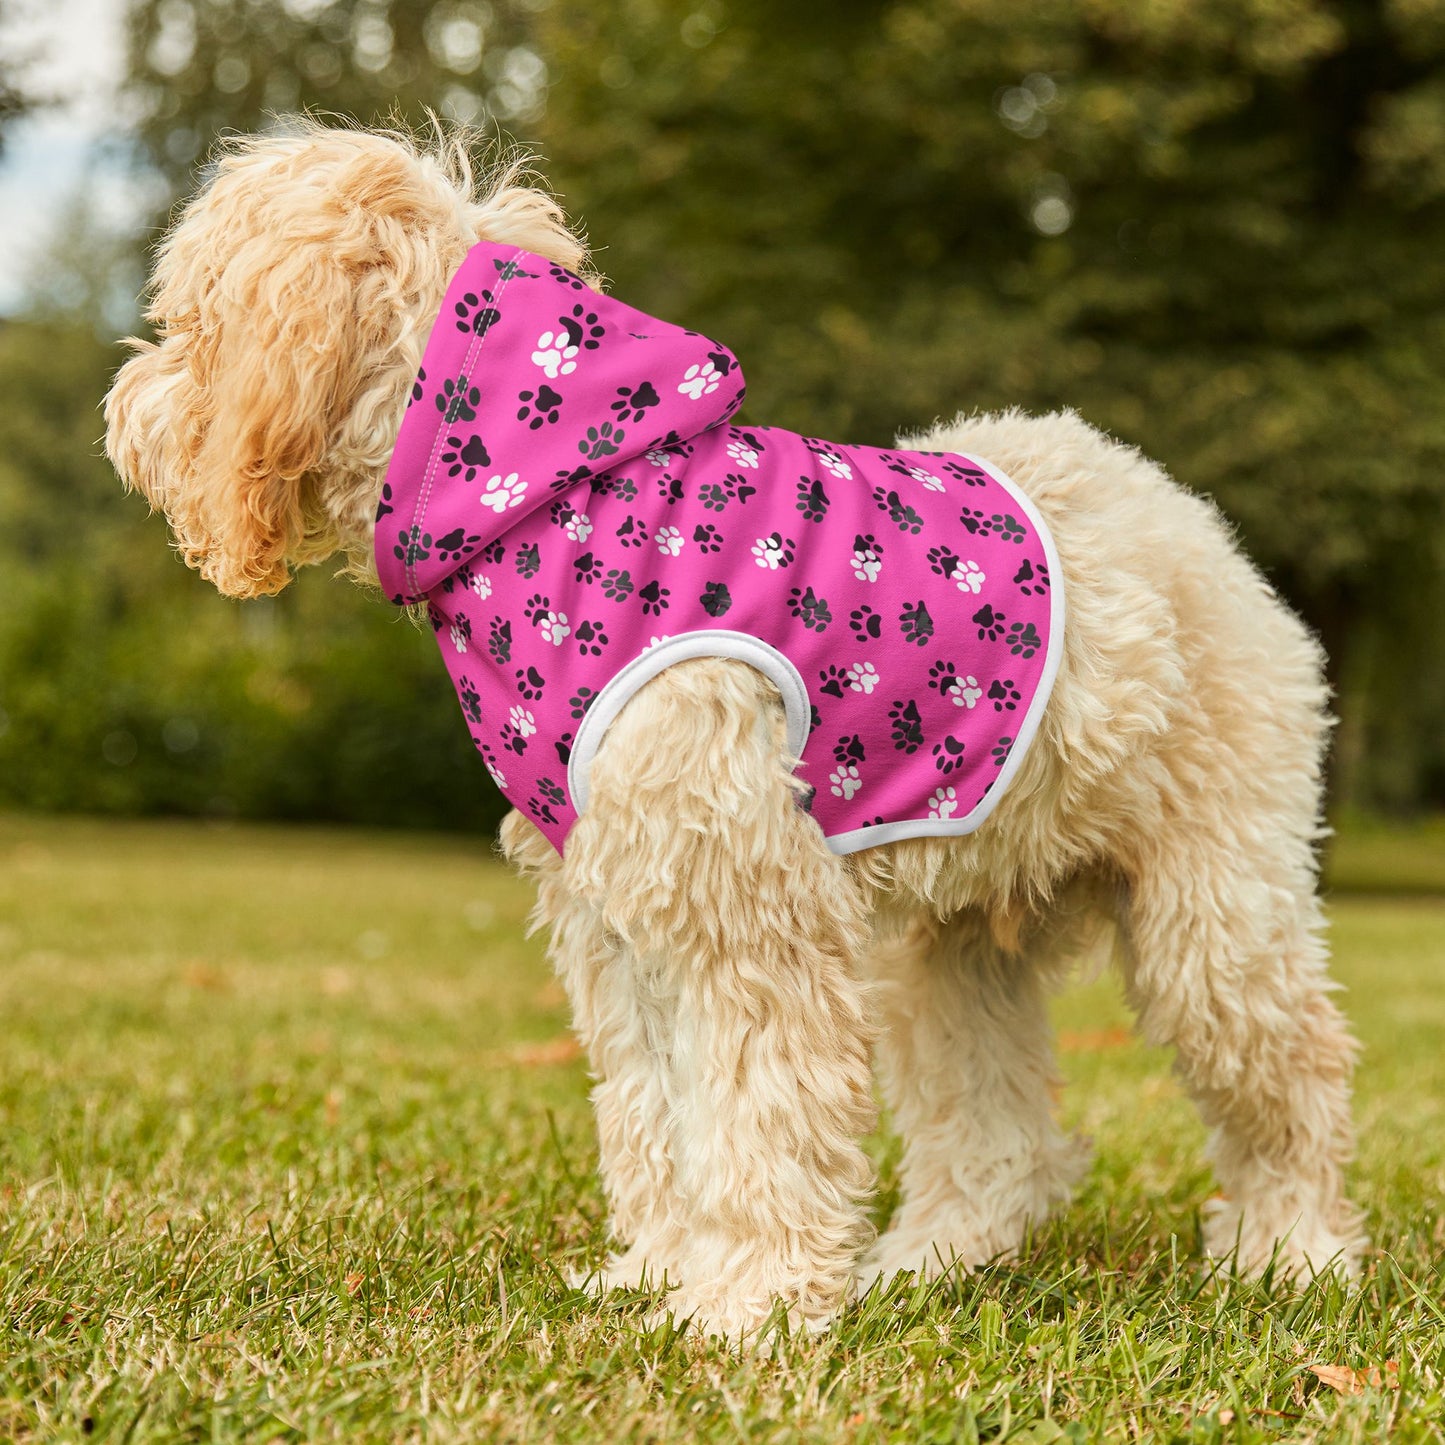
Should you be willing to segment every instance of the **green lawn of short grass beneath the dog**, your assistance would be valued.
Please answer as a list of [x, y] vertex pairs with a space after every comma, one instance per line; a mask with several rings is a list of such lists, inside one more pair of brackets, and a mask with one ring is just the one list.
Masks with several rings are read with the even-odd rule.
[[1360, 1289], [1211, 1277], [1201, 1129], [1095, 984], [1074, 1207], [770, 1360], [568, 1286], [603, 1205], [527, 905], [458, 840], [0, 818], [0, 1439], [1445, 1439], [1445, 902], [1331, 906]]

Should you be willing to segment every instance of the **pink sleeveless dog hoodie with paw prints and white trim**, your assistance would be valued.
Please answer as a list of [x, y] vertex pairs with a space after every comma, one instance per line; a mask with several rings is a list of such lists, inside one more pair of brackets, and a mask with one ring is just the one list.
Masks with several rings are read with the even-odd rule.
[[835, 853], [971, 832], [1058, 672], [1043, 522], [981, 458], [728, 425], [741, 400], [725, 347], [478, 244], [387, 471], [383, 588], [426, 603], [488, 772], [558, 851], [613, 718], [705, 656], [777, 685]]

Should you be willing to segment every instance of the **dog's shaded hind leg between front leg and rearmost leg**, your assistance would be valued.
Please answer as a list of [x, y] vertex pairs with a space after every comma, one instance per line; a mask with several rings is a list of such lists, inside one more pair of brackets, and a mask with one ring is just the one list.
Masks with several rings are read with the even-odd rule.
[[1046, 952], [1000, 948], [981, 912], [919, 920], [873, 954], [879, 1064], [903, 1136], [902, 1202], [860, 1283], [1010, 1256], [1065, 1202], [1087, 1147], [1053, 1120]]

